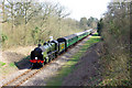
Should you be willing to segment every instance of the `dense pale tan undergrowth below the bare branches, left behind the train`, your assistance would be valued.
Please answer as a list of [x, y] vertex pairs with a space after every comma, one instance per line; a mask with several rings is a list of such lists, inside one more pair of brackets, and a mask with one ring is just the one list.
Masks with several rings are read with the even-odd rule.
[[[38, 40], [41, 40], [42, 43], [44, 43], [45, 41], [50, 40], [50, 36], [53, 36], [56, 40], [61, 36], [66, 36], [81, 31], [77, 29], [76, 25], [68, 25], [66, 23], [66, 20], [62, 20], [61, 24], [58, 24], [53, 19], [52, 21], [50, 21], [48, 25], [42, 29], [38, 28], [37, 24], [36, 25], [35, 24], [28, 24], [26, 26], [19, 25], [12, 29], [11, 23], [4, 23], [2, 26], [2, 33], [8, 38], [2, 43], [2, 48], [6, 50], [15, 46], [26, 46], [34, 44], [36, 45], [38, 44]], [[36, 29], [37, 32], [33, 33], [33, 30], [35, 28], [38, 28]]]

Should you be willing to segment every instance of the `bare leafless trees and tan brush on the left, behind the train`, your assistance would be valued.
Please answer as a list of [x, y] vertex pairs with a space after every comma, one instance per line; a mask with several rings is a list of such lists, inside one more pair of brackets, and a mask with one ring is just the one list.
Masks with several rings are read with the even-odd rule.
[[50, 36], [56, 40], [86, 30], [81, 20], [68, 18], [70, 13], [59, 3], [36, 0], [2, 0], [0, 3], [3, 48], [35, 45]]

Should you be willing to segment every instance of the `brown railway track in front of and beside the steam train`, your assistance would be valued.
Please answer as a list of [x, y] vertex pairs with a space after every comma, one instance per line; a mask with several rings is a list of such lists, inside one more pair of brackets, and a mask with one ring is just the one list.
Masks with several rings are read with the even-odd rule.
[[[82, 40], [81, 40], [82, 41]], [[81, 42], [79, 41], [79, 42]], [[79, 43], [78, 42], [78, 43]], [[78, 44], [76, 43], [76, 44]], [[74, 46], [76, 46], [76, 44]], [[70, 46], [67, 51], [69, 51], [70, 48], [73, 48], [74, 46]], [[19, 87], [21, 86], [23, 82], [25, 82], [28, 79], [30, 79], [31, 77], [35, 76], [38, 72], [41, 72], [42, 69], [44, 69], [45, 67], [47, 67], [50, 64], [52, 64], [52, 62], [54, 62], [55, 59], [57, 59], [58, 57], [63, 56], [65, 54], [65, 52], [63, 54], [61, 54], [59, 56], [57, 56], [56, 58], [54, 58], [53, 61], [51, 61], [50, 63], [45, 64], [43, 67], [41, 67], [40, 69], [28, 69], [26, 72], [24, 72], [23, 74], [16, 76], [15, 78], [13, 78], [12, 80], [6, 82], [2, 85], [1, 88], [4, 88], [6, 86], [14, 86]]]

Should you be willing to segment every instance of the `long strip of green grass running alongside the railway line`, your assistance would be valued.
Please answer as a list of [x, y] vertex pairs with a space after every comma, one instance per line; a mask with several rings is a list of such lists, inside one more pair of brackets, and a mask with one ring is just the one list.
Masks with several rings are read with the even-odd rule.
[[100, 42], [100, 36], [97, 36], [97, 33], [92, 35], [81, 47], [80, 50], [68, 61], [65, 66], [58, 70], [57, 75], [50, 80], [47, 80], [47, 86], [61, 86], [64, 77], [75, 69], [75, 65], [78, 63], [79, 58], [84, 55], [88, 47], [92, 44]]

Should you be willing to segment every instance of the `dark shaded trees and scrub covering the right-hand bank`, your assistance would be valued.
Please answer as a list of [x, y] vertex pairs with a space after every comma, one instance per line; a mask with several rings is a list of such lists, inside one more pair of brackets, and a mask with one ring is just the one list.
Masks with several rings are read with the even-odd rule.
[[130, 29], [132, 28], [132, 2], [110, 2], [105, 18], [98, 23], [103, 40], [105, 74], [99, 86], [130, 86], [132, 52]]

